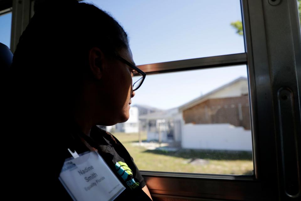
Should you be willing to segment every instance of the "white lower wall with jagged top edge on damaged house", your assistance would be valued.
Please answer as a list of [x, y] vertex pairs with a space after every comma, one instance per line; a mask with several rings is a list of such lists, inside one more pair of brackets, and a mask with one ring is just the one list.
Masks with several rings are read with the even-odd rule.
[[252, 151], [250, 130], [223, 124], [184, 124], [182, 148]]

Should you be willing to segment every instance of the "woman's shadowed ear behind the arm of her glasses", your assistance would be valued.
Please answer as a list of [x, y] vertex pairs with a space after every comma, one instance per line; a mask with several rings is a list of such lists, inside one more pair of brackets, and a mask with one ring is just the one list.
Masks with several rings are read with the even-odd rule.
[[89, 67], [92, 75], [96, 79], [103, 76], [103, 59], [104, 54], [98, 47], [92, 47], [89, 51]]

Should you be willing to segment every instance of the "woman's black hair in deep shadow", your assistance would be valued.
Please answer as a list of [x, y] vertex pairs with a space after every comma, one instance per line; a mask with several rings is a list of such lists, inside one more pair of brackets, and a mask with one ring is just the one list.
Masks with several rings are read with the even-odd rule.
[[[10, 69], [20, 101], [71, 101], [88, 72], [88, 53], [108, 57], [128, 48], [127, 34], [108, 13], [77, 0], [36, 0]], [[31, 100], [33, 99], [33, 100]]]

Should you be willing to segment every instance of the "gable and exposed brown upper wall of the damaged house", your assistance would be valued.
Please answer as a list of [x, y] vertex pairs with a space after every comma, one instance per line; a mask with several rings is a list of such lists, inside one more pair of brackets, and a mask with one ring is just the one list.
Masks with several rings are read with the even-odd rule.
[[230, 123], [251, 129], [247, 78], [240, 77], [179, 107], [185, 124]]

